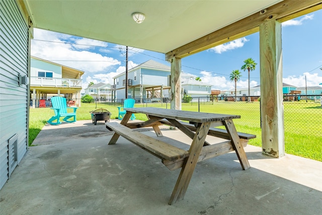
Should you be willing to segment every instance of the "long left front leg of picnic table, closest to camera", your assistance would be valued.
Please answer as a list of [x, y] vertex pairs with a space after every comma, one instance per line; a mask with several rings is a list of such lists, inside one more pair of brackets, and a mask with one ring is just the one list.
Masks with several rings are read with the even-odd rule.
[[189, 149], [190, 156], [185, 160], [185, 163], [182, 166], [177, 183], [169, 200], [170, 205], [175, 203], [177, 200], [182, 200], [186, 194], [190, 179], [197, 165], [201, 149], [205, 142], [205, 138], [208, 134], [209, 126], [210, 122], [205, 122], [202, 123], [201, 126], [196, 130], [191, 147]]

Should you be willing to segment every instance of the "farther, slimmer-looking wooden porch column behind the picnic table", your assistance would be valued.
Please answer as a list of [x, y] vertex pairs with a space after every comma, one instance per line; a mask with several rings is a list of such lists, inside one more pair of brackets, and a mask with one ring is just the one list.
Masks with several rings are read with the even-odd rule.
[[181, 110], [181, 59], [171, 58], [170, 100], [171, 109]]

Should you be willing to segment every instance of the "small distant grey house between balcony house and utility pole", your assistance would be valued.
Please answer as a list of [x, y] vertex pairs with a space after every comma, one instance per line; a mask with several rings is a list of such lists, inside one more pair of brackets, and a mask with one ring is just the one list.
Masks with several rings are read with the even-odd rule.
[[84, 95], [90, 95], [93, 99], [99, 99], [99, 101], [110, 101], [112, 99], [111, 85], [100, 82], [89, 86], [85, 89]]

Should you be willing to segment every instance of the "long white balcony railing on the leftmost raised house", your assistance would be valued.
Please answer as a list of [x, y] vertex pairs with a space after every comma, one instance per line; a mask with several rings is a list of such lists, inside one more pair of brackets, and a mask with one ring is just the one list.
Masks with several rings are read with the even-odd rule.
[[83, 80], [81, 79], [58, 79], [44, 77], [30, 77], [31, 86], [41, 87], [76, 87], [82, 88]]

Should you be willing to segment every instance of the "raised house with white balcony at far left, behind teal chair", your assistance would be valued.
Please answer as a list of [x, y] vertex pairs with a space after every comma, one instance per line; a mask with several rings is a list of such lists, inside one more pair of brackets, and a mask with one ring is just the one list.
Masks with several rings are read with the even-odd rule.
[[84, 71], [31, 56], [30, 98], [32, 107], [38, 107], [39, 100], [48, 101], [51, 96], [64, 96], [67, 101], [74, 100], [75, 105], [81, 106], [80, 92], [83, 74]]

